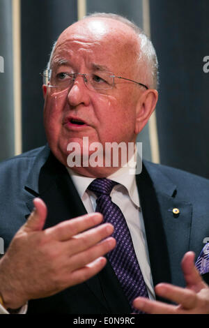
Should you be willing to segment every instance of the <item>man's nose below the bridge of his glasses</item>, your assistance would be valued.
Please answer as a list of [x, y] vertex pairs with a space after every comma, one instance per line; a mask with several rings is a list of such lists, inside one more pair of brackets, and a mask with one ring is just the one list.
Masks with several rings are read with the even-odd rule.
[[89, 104], [89, 91], [84, 82], [85, 79], [86, 77], [84, 75], [75, 76], [72, 87], [68, 92], [68, 101], [72, 107], [76, 107], [80, 104], [87, 106]]

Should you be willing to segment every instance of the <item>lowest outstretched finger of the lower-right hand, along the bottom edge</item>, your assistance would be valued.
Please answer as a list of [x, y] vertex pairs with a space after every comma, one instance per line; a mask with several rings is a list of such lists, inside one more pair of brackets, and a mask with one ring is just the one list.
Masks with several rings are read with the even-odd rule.
[[153, 301], [145, 297], [137, 297], [133, 301], [134, 308], [150, 314], [180, 314], [183, 311], [178, 310], [177, 306]]

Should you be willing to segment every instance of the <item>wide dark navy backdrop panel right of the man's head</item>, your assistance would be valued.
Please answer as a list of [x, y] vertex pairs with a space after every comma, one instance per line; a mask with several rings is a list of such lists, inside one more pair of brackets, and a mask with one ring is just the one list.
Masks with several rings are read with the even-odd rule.
[[157, 105], [161, 163], [209, 178], [208, 0], [150, 0], [160, 64]]

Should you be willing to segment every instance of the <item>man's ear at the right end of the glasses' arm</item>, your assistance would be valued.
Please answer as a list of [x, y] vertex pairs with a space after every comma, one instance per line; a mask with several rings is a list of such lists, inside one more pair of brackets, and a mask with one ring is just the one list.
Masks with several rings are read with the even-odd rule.
[[137, 102], [137, 121], [134, 133], [138, 134], [146, 126], [148, 119], [155, 110], [158, 99], [158, 92], [155, 89], [144, 91]]

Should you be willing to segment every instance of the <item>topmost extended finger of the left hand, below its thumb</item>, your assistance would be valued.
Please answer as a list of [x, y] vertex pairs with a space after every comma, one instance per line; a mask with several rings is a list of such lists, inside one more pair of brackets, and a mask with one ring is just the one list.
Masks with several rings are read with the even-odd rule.
[[48, 228], [45, 230], [45, 233], [53, 239], [65, 241], [80, 232], [100, 224], [102, 219], [103, 216], [100, 213], [85, 214], [83, 216], [78, 216], [77, 218], [63, 221], [52, 228]]

